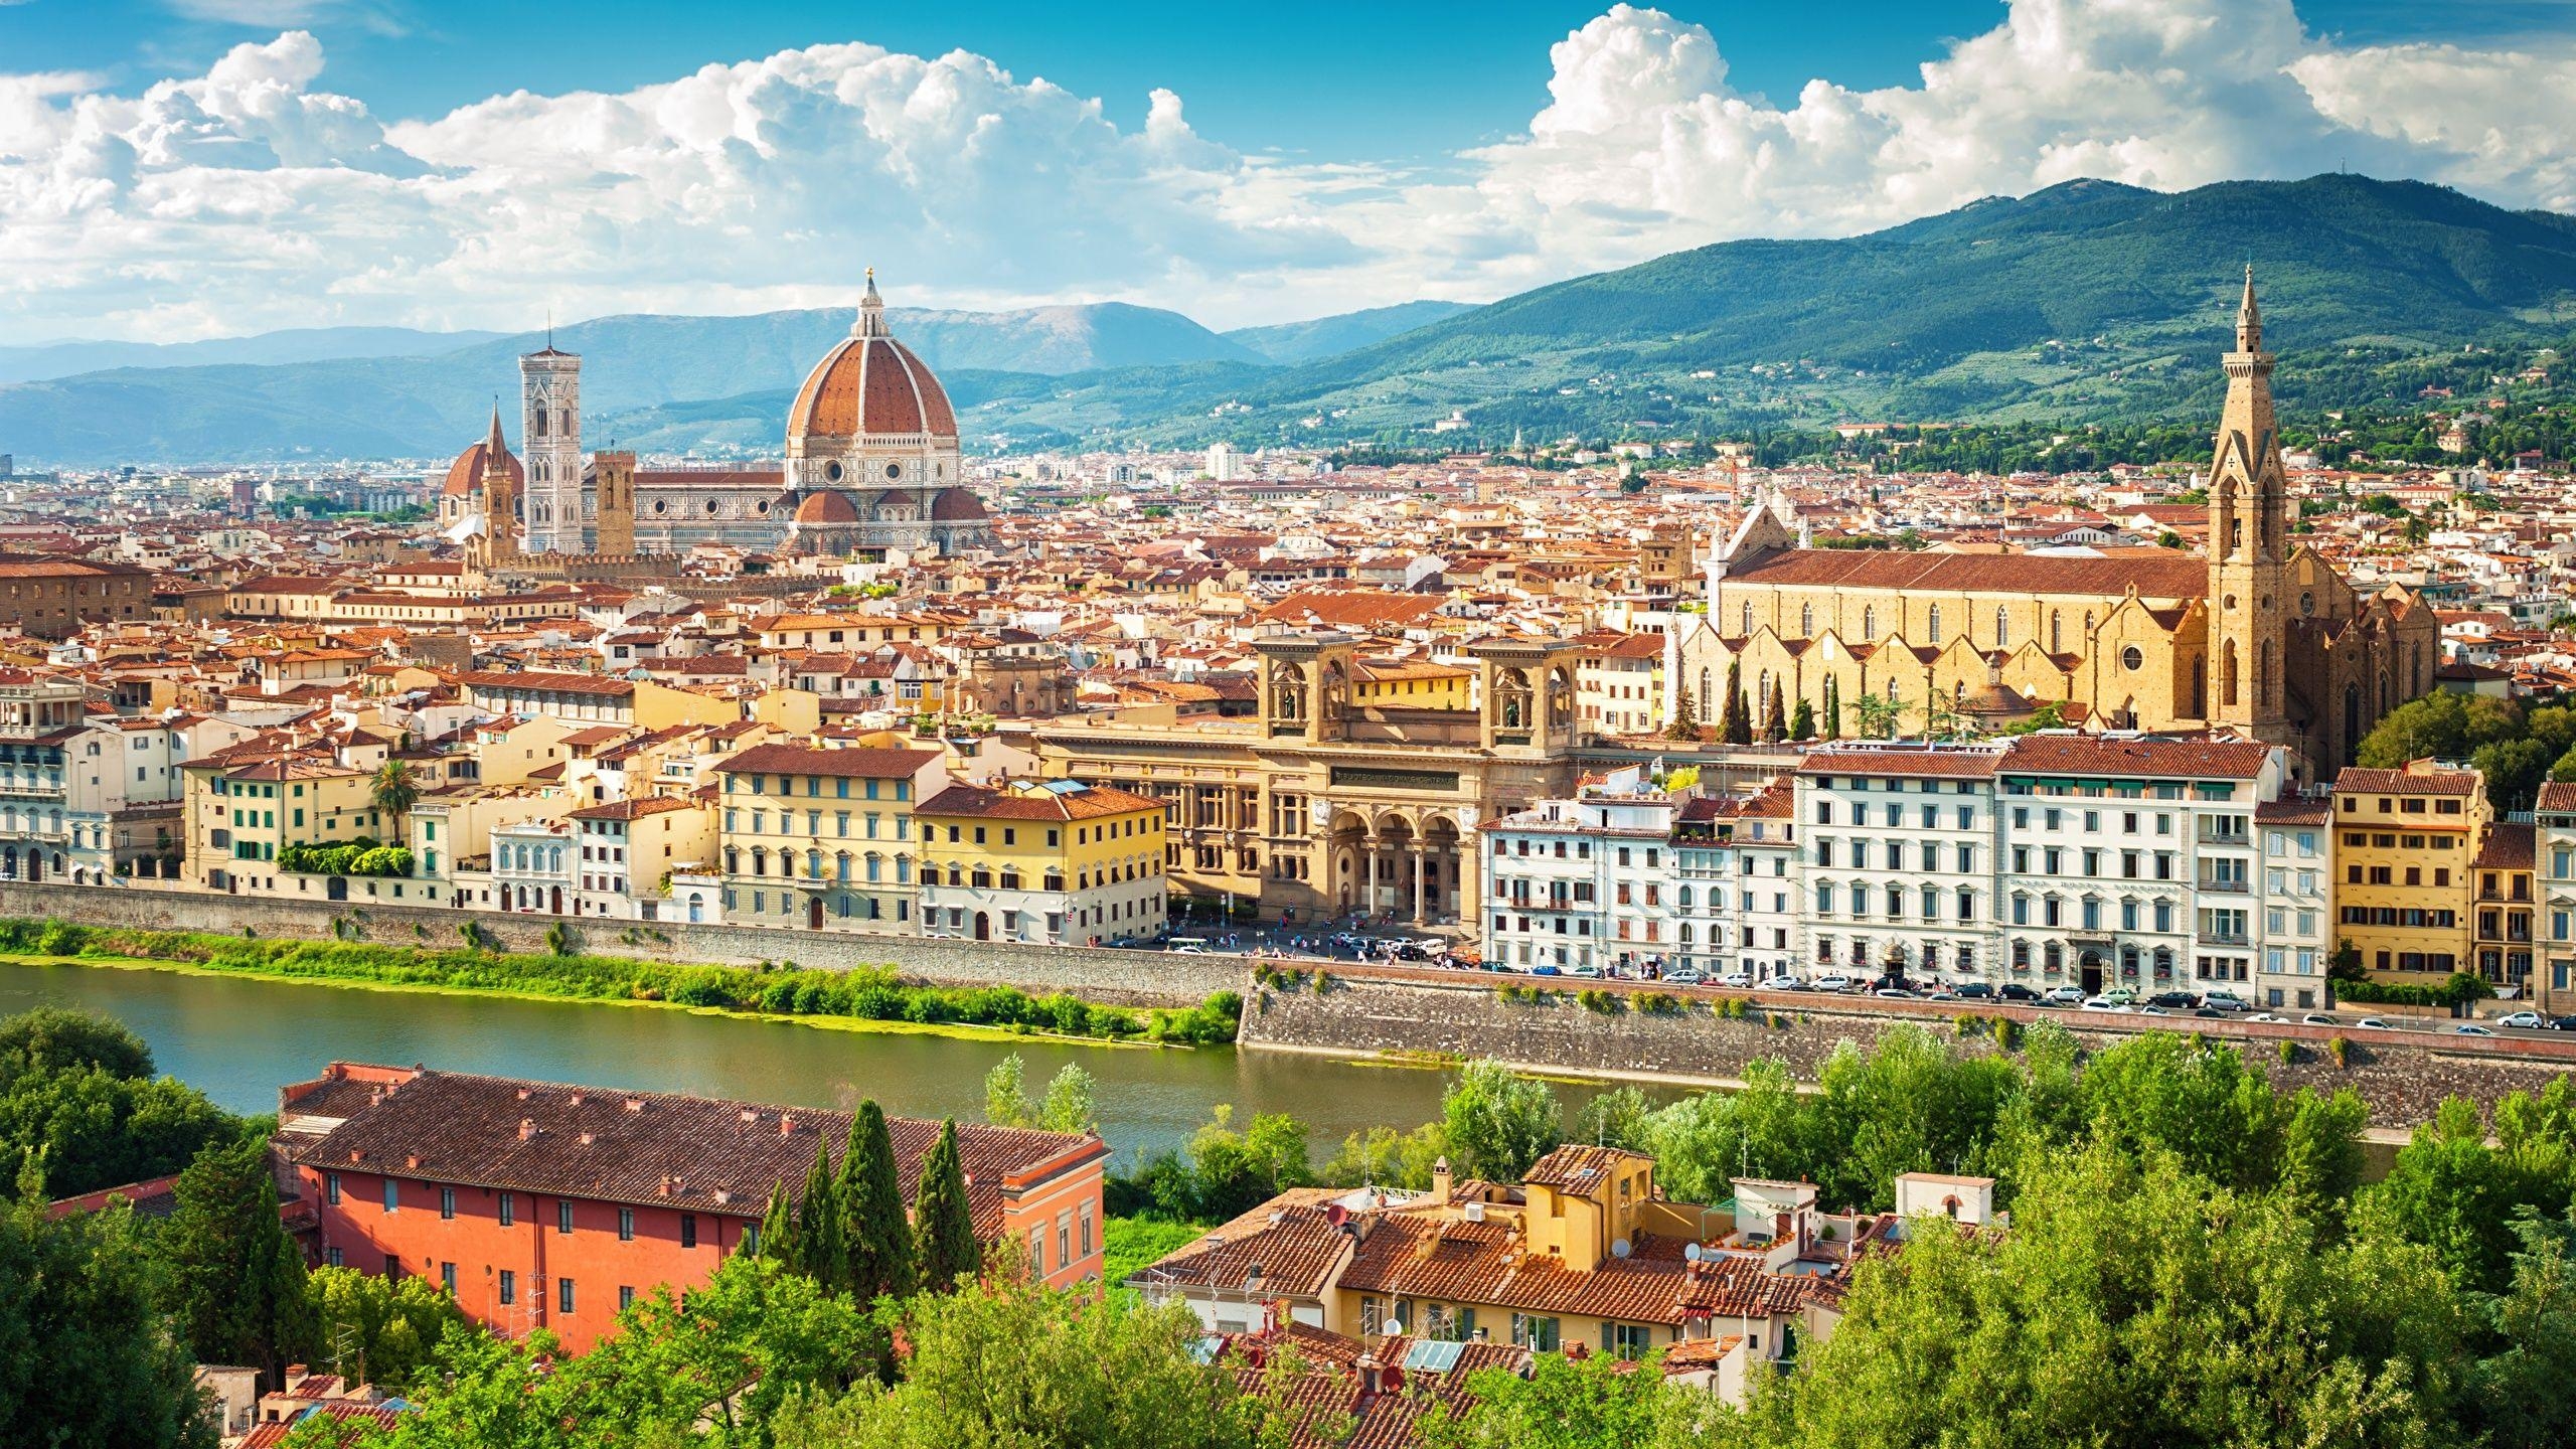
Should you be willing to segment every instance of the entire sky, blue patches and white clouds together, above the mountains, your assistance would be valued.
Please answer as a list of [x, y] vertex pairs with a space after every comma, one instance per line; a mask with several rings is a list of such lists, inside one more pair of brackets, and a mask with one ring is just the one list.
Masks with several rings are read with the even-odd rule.
[[2076, 175], [2576, 211], [2576, 0], [0, 0], [0, 343], [1492, 299]]

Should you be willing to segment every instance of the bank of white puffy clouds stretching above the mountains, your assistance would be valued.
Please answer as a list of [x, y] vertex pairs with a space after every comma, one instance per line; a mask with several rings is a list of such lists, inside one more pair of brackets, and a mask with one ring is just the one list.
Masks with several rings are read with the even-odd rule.
[[[317, 0], [188, 0], [286, 15]], [[278, 8], [283, 5], [283, 10]], [[1906, 85], [1734, 83], [1615, 5], [1437, 175], [1244, 155], [951, 52], [868, 44], [381, 124], [283, 31], [113, 95], [0, 75], [0, 335], [1118, 297], [1213, 325], [1494, 297], [1728, 237], [1852, 235], [2076, 175], [2334, 165], [2576, 209], [2576, 44], [2339, 46], [2290, 0], [2014, 0]]]

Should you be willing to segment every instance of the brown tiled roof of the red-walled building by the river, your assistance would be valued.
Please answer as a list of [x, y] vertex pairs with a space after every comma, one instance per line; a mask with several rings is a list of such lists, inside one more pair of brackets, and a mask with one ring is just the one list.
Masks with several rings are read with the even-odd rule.
[[[397, 1067], [363, 1070], [399, 1078]], [[340, 1091], [332, 1101], [345, 1119], [317, 1140], [291, 1142], [289, 1160], [734, 1217], [760, 1217], [775, 1183], [793, 1194], [814, 1152], [840, 1152], [850, 1142], [848, 1111], [466, 1073], [422, 1070], [381, 1096], [368, 1091], [355, 1101]], [[289, 1088], [283, 1111], [309, 1114], [309, 1104]], [[886, 1127], [909, 1204], [940, 1124], [889, 1116]], [[1090, 1134], [958, 1124], [958, 1152], [976, 1232], [992, 1238], [1002, 1227], [1005, 1189], [1092, 1163], [1108, 1147]]]

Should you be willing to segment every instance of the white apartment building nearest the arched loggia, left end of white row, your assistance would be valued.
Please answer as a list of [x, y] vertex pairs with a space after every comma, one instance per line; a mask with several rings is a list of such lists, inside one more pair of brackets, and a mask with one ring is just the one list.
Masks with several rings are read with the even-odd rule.
[[1628, 766], [1574, 799], [1489, 820], [1486, 962], [1605, 972], [1672, 964], [1680, 804]]

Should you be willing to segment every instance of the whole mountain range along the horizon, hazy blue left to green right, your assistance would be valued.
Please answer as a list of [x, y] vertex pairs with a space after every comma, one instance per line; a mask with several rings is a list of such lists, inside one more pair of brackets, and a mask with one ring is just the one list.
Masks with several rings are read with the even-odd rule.
[[[2460, 371], [2463, 345], [2576, 333], [2576, 219], [2360, 175], [2179, 193], [2071, 180], [1865, 237], [1721, 242], [1484, 307], [1226, 335], [1123, 304], [889, 320], [940, 369], [976, 449], [1422, 446], [1453, 413], [1468, 425], [1443, 446], [1847, 418], [2105, 420], [2215, 405], [2246, 263], [2293, 407], [2411, 397], [2427, 366]], [[590, 438], [757, 454], [845, 330], [848, 312], [603, 317], [559, 345], [585, 358]], [[492, 394], [515, 392], [526, 345], [0, 387], [0, 451], [440, 454], [479, 433]]]

